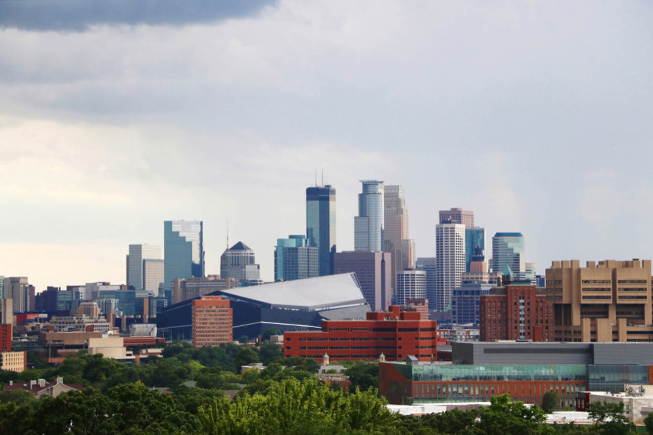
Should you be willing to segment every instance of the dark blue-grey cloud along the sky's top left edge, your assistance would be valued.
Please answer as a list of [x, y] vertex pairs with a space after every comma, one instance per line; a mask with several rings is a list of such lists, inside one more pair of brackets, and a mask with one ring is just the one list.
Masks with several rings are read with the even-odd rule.
[[1, 1], [0, 27], [84, 31], [97, 24], [183, 25], [256, 14], [275, 0], [68, 0]]

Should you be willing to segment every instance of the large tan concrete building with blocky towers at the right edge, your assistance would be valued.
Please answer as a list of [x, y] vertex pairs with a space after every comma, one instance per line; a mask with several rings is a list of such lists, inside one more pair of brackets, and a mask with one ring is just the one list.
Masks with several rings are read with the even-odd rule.
[[552, 262], [546, 295], [556, 341], [653, 341], [650, 260]]

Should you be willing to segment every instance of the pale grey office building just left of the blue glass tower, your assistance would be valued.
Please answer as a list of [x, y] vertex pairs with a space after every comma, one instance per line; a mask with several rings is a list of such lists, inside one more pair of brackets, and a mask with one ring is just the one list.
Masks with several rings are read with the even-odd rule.
[[[146, 260], [152, 260], [148, 262], [147, 268]], [[148, 290], [153, 295], [158, 295], [159, 283], [164, 282], [164, 280], [161, 247], [156, 245], [129, 245], [127, 288]]]

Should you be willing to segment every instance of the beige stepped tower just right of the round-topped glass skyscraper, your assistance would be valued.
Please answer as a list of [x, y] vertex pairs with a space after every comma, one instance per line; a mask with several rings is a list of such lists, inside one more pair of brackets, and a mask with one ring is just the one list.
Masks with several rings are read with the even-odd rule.
[[408, 209], [404, 187], [383, 188], [383, 250], [392, 254], [392, 279], [396, 287], [397, 274], [415, 268], [415, 241], [408, 239]]

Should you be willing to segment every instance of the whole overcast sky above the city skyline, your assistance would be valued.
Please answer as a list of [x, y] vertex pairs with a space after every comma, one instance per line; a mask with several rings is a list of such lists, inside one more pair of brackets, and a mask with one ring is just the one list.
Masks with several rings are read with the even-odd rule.
[[[651, 258], [650, 1], [2, 1], [0, 275], [125, 282], [204, 221], [271, 280], [315, 170], [353, 249], [360, 179], [526, 237], [528, 262]], [[320, 177], [320, 175], [318, 175]]]

